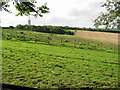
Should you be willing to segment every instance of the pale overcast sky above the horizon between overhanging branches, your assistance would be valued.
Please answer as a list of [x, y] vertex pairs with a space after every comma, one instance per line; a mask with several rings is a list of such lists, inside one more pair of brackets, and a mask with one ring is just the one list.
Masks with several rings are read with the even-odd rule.
[[[93, 20], [105, 11], [101, 8], [101, 3], [105, 0], [36, 0], [37, 5], [41, 6], [47, 2], [50, 8], [49, 14], [35, 18], [31, 16], [32, 25], [56, 25], [74, 27], [94, 27]], [[14, 6], [10, 8], [12, 14], [5, 11], [0, 12], [1, 26], [16, 26], [27, 24], [27, 16], [15, 16]]]

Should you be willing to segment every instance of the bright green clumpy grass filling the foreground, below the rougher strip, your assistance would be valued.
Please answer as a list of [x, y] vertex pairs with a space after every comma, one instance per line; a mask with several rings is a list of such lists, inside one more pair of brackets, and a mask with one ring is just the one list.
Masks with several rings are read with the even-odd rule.
[[115, 88], [118, 54], [3, 40], [3, 83], [34, 88]]

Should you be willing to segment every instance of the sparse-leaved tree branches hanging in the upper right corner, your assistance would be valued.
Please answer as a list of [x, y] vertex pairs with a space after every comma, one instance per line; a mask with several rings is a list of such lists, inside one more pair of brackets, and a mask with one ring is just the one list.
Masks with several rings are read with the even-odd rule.
[[120, 29], [120, 0], [106, 0], [102, 5], [107, 12], [101, 13], [93, 22], [95, 27], [104, 25], [106, 28]]

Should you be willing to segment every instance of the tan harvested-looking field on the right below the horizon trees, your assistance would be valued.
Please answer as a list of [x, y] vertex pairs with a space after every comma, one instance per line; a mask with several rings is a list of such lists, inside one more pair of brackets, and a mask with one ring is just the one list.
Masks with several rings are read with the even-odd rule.
[[113, 44], [118, 44], [118, 33], [108, 33], [108, 32], [95, 32], [95, 31], [80, 31], [77, 30], [75, 36], [81, 38], [87, 38], [92, 40], [99, 40], [102, 42], [110, 42]]

